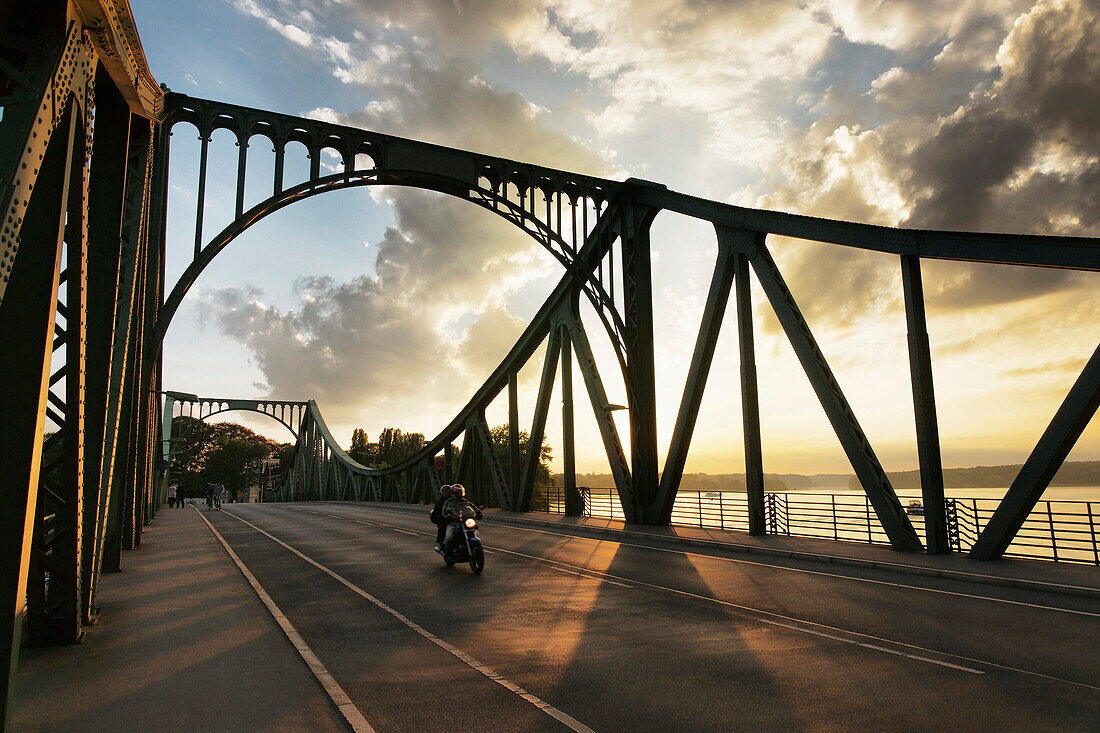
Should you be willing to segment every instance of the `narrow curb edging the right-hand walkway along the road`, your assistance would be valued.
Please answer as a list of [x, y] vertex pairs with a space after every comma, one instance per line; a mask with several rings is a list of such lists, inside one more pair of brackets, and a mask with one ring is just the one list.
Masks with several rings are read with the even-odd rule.
[[[396, 506], [376, 506], [389, 512], [400, 512], [408, 514], [409, 510]], [[660, 540], [675, 545], [688, 545], [690, 547], [707, 547], [712, 549], [723, 549], [733, 553], [746, 553], [750, 555], [763, 555], [769, 557], [783, 557], [792, 560], [806, 560], [810, 562], [822, 562], [827, 565], [840, 565], [854, 568], [868, 568], [899, 572], [910, 576], [924, 576], [928, 578], [943, 578], [944, 580], [958, 580], [971, 583], [982, 583], [986, 586], [999, 586], [1001, 588], [1015, 588], [1018, 590], [1041, 591], [1044, 593], [1057, 593], [1060, 595], [1077, 595], [1080, 598], [1100, 598], [1100, 588], [1088, 588], [1085, 586], [1067, 586], [1064, 583], [1050, 583], [1041, 580], [1025, 580], [1022, 578], [1002, 578], [999, 576], [986, 576], [978, 572], [966, 572], [963, 570], [944, 570], [941, 568], [925, 568], [916, 565], [904, 565], [901, 562], [882, 562], [881, 560], [862, 560], [854, 557], [843, 557], [837, 555], [824, 555], [821, 553], [806, 553], [804, 550], [785, 550], [774, 547], [757, 547], [739, 543], [724, 543], [716, 539], [695, 539], [693, 537], [676, 537], [658, 535], [650, 532], [638, 532], [637, 529], [612, 529], [607, 527], [587, 527], [578, 524], [562, 525], [558, 522], [547, 522], [519, 516], [506, 516], [493, 514], [486, 516], [483, 522], [487, 524], [515, 524], [515, 525], [538, 525], [542, 527], [553, 527], [557, 529], [569, 528], [578, 534], [597, 534], [616, 537], [634, 537], [649, 540]]]

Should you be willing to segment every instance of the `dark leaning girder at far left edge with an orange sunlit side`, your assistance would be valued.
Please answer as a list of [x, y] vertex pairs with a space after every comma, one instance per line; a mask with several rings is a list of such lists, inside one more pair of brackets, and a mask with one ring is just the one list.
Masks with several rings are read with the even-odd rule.
[[75, 127], [68, 116], [45, 147], [0, 302], [0, 723], [11, 712], [38, 503], [56, 294]]

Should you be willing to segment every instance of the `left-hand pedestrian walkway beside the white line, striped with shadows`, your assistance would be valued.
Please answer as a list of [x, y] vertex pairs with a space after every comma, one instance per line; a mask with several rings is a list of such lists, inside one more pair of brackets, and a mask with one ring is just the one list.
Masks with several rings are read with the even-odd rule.
[[161, 510], [84, 643], [23, 649], [11, 730], [346, 730], [199, 511]]

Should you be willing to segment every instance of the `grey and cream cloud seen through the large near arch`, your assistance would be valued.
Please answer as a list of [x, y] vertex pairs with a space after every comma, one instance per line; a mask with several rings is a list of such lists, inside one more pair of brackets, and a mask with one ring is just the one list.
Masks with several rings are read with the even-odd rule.
[[204, 293], [200, 309], [251, 351], [273, 393], [315, 395], [337, 423], [411, 395], [425, 408], [452, 407], [515, 342], [522, 321], [503, 299], [540, 269], [521, 233], [439, 199], [394, 193], [396, 226], [377, 242], [373, 277], [299, 278], [292, 309], [221, 288]]

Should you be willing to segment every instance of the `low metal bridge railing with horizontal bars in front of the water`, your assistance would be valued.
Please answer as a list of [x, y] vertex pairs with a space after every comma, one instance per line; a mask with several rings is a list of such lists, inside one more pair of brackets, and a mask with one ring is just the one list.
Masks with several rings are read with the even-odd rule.
[[[559, 492], [554, 494], [553, 492]], [[612, 490], [581, 489], [585, 516], [624, 521]], [[550, 496], [561, 495], [561, 488]], [[875, 519], [866, 495], [835, 493], [768, 492], [765, 508], [768, 534], [816, 537], [889, 545]], [[911, 501], [903, 496], [903, 501]], [[917, 501], [917, 500], [912, 500]], [[966, 553], [981, 535], [1000, 500], [952, 497], [946, 500], [952, 549]], [[550, 500], [536, 511], [562, 513], [563, 501]], [[535, 508], [535, 507], [532, 507]], [[917, 532], [924, 529], [924, 507], [908, 510]], [[736, 492], [681, 492], [672, 508], [672, 524], [748, 530], [748, 500]], [[1100, 565], [1100, 502], [1041, 501], [1035, 506], [1005, 556]]]

